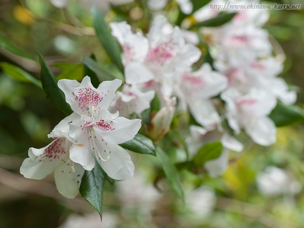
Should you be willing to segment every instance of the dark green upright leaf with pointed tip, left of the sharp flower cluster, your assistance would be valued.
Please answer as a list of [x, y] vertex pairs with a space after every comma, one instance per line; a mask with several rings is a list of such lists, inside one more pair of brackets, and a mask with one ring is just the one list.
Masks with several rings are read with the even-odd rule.
[[57, 85], [57, 80], [50, 70], [50, 68], [45, 63], [41, 53], [39, 52], [41, 59], [41, 72], [40, 78], [42, 83], [42, 88], [47, 94], [48, 98], [66, 115], [70, 115], [73, 111], [70, 105], [65, 101], [64, 93]]

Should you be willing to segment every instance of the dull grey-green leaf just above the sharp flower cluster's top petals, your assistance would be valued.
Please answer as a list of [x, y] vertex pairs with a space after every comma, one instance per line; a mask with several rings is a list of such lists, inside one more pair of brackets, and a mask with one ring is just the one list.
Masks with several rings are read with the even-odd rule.
[[[88, 57], [87, 55], [84, 56], [82, 64], [84, 64], [86, 67], [88, 67], [91, 71], [93, 71], [96, 74], [99, 83], [102, 81], [112, 81], [116, 78], [114, 75], [108, 73], [107, 71], [104, 71], [94, 59]], [[118, 78], [118, 79], [123, 80], [123, 78]], [[95, 84], [96, 83], [97, 82], [95, 81]]]

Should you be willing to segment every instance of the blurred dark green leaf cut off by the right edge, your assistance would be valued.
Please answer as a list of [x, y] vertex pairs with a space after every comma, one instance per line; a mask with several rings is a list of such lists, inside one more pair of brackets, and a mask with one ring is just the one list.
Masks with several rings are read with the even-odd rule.
[[275, 122], [277, 127], [304, 123], [303, 109], [296, 105], [284, 105], [282, 102], [278, 102], [269, 117]]

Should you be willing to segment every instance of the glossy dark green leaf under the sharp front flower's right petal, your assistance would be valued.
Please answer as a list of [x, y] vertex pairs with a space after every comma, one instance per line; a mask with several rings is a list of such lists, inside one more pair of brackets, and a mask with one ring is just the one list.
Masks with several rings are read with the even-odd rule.
[[137, 133], [133, 139], [131, 139], [128, 142], [120, 144], [123, 148], [127, 150], [131, 150], [135, 153], [140, 154], [152, 154], [156, 156], [155, 154], [155, 147], [153, 145], [152, 140], [150, 140], [148, 137], [143, 136], [140, 133]]

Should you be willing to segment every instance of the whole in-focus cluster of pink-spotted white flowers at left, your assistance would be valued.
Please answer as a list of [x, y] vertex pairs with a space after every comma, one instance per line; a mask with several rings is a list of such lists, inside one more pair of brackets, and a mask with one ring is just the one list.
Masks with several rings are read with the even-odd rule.
[[42, 179], [54, 171], [58, 191], [67, 198], [78, 195], [85, 170], [92, 170], [95, 160], [116, 180], [133, 177], [130, 155], [118, 144], [133, 139], [141, 127], [140, 119], [126, 119], [108, 111], [122, 81], [103, 81], [94, 88], [86, 76], [81, 83], [62, 79], [59, 88], [74, 111], [48, 135], [53, 138], [41, 149], [30, 148], [20, 168], [26, 178]]

